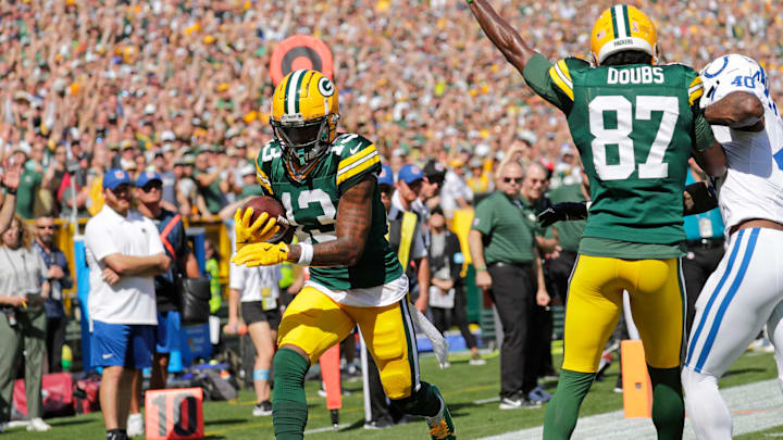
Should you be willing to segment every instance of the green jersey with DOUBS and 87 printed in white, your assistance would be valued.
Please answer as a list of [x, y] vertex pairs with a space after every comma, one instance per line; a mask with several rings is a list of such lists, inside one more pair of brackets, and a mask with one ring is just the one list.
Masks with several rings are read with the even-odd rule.
[[524, 77], [566, 113], [582, 155], [593, 200], [583, 236], [672, 246], [684, 240], [688, 158], [712, 142], [697, 129], [706, 124], [696, 110], [698, 74], [681, 64], [592, 67], [567, 59], [551, 65], [537, 54]]

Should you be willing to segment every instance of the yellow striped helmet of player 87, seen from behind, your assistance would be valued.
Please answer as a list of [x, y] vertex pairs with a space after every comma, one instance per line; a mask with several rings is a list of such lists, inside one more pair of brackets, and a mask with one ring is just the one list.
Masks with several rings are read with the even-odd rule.
[[604, 11], [591, 34], [591, 51], [600, 65], [607, 56], [625, 50], [637, 50], [658, 56], [658, 36], [655, 24], [634, 7], [618, 4]]

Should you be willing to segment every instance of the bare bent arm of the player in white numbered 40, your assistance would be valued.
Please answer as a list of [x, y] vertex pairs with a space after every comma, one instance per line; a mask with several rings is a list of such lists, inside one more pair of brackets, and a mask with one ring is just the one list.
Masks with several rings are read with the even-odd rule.
[[732, 91], [705, 109], [705, 118], [713, 125], [724, 125], [744, 131], [761, 131], [765, 109], [761, 100], [746, 91]]

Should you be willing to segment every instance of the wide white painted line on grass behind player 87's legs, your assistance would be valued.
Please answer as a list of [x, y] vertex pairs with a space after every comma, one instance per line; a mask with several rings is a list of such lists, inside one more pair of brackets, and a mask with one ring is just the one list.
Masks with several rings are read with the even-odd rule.
[[[721, 390], [734, 418], [734, 436], [756, 432], [783, 424], [783, 397], [776, 380], [765, 380]], [[524, 410], [518, 410], [524, 411]], [[513, 412], [509, 412], [509, 415]], [[522, 429], [482, 440], [540, 439], [543, 427]], [[625, 419], [622, 411], [580, 418], [572, 439], [656, 439], [651, 419]], [[684, 439], [695, 439], [691, 420], [685, 418]]]

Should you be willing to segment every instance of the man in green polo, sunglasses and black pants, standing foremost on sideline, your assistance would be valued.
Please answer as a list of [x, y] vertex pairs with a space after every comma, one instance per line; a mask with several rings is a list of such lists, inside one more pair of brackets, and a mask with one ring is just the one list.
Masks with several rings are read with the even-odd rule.
[[522, 165], [507, 163], [498, 173], [497, 188], [475, 209], [468, 235], [476, 286], [488, 291], [502, 324], [500, 348], [500, 408], [538, 407], [531, 399], [537, 386], [530, 375], [533, 345], [527, 325], [535, 301], [549, 303], [532, 224], [522, 213]]

